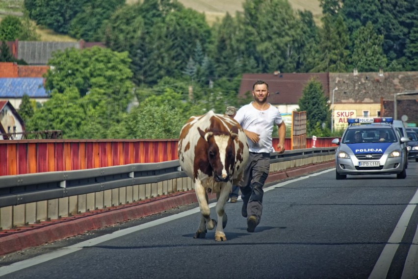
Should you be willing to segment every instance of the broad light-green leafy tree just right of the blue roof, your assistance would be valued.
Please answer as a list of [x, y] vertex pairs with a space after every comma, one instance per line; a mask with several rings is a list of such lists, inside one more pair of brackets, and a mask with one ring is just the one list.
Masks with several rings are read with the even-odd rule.
[[127, 52], [100, 47], [57, 51], [48, 61], [53, 68], [47, 72], [45, 88], [64, 92], [68, 87], [76, 87], [81, 97], [98, 89], [126, 107], [133, 86], [130, 62]]

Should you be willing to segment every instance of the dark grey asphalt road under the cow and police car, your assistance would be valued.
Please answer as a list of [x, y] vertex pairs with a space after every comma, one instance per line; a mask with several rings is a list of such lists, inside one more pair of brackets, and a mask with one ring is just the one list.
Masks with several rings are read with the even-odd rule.
[[418, 278], [417, 162], [406, 179], [331, 169], [268, 186], [254, 233], [238, 200], [226, 204], [227, 241], [194, 239], [191, 204], [9, 254], [0, 278]]

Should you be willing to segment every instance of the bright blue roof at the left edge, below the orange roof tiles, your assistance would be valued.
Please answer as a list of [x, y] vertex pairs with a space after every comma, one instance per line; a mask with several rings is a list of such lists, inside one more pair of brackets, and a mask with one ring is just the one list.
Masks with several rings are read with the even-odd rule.
[[0, 78], [0, 98], [48, 98], [43, 86], [43, 77]]

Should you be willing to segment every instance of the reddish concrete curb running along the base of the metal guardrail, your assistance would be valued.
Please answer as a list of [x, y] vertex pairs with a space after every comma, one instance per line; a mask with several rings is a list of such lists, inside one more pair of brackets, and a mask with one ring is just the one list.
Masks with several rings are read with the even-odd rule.
[[[300, 176], [334, 166], [335, 162], [329, 162], [270, 174], [266, 182], [268, 183]], [[215, 197], [215, 195], [211, 195], [209, 198], [212, 199]], [[197, 203], [194, 190], [158, 197], [152, 200], [140, 201], [138, 203], [116, 206], [106, 210], [86, 212], [81, 216], [72, 216], [59, 220], [42, 222], [41, 224], [31, 226], [30, 228], [18, 228], [13, 232], [0, 235], [0, 255], [76, 236], [89, 230], [113, 226], [129, 220], [157, 214], [190, 203]]]

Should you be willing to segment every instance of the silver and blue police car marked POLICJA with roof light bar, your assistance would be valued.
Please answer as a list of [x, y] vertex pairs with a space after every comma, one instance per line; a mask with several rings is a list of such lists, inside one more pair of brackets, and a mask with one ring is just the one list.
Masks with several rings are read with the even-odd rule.
[[336, 178], [347, 175], [396, 174], [406, 178], [408, 151], [403, 137], [393, 127], [393, 118], [348, 118], [336, 152]]

